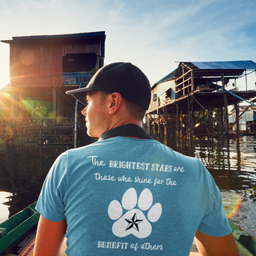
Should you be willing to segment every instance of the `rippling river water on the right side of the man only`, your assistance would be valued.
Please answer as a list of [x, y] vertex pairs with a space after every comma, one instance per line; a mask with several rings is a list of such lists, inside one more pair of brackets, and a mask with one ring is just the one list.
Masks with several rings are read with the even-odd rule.
[[256, 238], [256, 201], [243, 193], [256, 186], [256, 137], [194, 142], [194, 154], [213, 175], [226, 215]]

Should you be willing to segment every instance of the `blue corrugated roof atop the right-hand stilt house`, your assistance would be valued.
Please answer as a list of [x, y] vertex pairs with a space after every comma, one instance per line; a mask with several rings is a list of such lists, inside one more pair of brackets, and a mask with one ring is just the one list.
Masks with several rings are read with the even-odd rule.
[[200, 70], [256, 70], [256, 63], [253, 61], [191, 63]]

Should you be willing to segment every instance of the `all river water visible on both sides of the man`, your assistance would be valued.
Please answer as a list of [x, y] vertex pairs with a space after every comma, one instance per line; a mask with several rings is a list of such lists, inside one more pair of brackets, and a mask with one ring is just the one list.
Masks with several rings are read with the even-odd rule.
[[[67, 149], [0, 144], [0, 222], [37, 200], [50, 166]], [[256, 137], [204, 138], [194, 141], [193, 151], [213, 175], [226, 215], [256, 238], [256, 202], [242, 192], [256, 186]]]

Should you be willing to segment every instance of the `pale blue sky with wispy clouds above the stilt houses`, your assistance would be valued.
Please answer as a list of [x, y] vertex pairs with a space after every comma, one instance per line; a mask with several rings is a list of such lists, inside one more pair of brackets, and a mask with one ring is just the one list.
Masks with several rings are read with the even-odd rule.
[[[178, 62], [256, 62], [255, 0], [0, 0], [0, 40], [95, 31], [106, 32], [105, 65], [132, 62], [151, 86]], [[0, 42], [0, 88], [9, 54]]]

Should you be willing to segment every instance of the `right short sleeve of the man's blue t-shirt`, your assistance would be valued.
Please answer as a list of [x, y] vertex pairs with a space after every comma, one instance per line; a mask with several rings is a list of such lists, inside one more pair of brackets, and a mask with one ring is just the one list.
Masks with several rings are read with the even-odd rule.
[[[218, 186], [210, 172], [202, 166], [205, 175], [205, 215], [198, 226], [198, 230], [203, 234], [221, 237], [231, 234], [232, 230], [226, 218], [225, 210], [222, 205], [222, 197]], [[208, 191], [207, 191], [208, 190]]]

